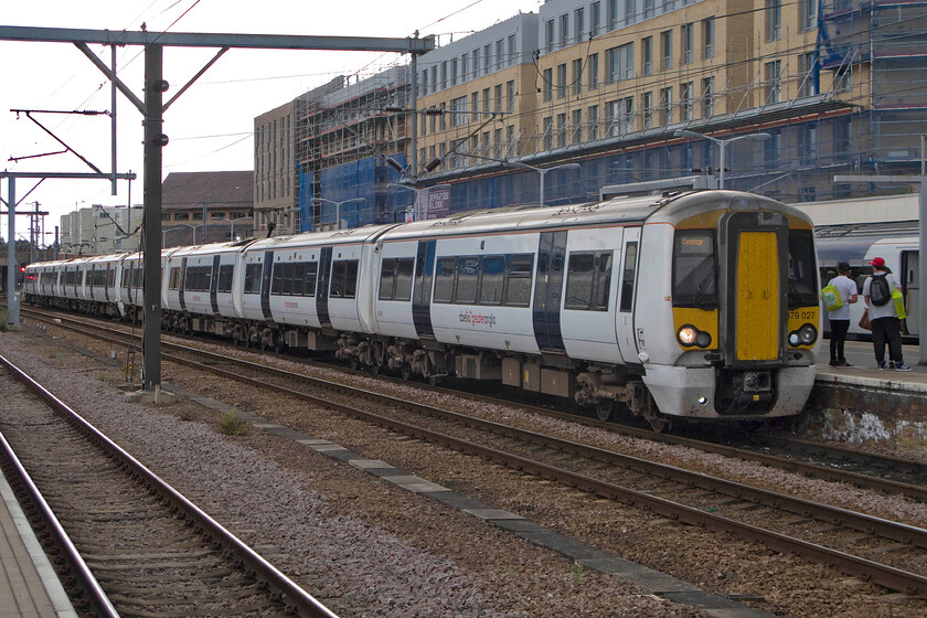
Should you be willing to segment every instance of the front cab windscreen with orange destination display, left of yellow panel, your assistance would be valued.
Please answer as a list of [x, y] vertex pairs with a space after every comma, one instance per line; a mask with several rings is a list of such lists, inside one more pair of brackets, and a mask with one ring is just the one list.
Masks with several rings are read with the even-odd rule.
[[678, 230], [673, 239], [673, 307], [717, 307], [713, 230]]

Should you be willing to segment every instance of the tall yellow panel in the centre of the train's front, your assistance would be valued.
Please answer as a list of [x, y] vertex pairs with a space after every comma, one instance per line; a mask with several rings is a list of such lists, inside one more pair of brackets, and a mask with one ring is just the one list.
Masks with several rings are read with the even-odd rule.
[[737, 360], [779, 355], [779, 257], [775, 232], [743, 232], [737, 251]]

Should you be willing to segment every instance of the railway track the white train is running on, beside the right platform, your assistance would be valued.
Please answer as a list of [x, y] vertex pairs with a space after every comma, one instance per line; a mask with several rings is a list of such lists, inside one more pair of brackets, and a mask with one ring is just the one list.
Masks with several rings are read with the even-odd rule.
[[[23, 308], [22, 311], [23, 315], [30, 315], [39, 319], [61, 320], [61, 327], [76, 328], [83, 334], [90, 335], [93, 333], [87, 332], [87, 330], [93, 330], [99, 333], [95, 337], [109, 337], [108, 341], [114, 344], [127, 345], [129, 343], [125, 329], [117, 329], [109, 324], [103, 326], [89, 320], [75, 319], [63, 313], [38, 311], [32, 308]], [[169, 342], [162, 342], [162, 347], [164, 350], [182, 350], [184, 348]], [[322, 364], [315, 363], [313, 361], [302, 362]], [[331, 365], [324, 364], [323, 366], [330, 367]], [[371, 375], [367, 372], [348, 367], [339, 367], [339, 371], [364, 376]], [[381, 375], [381, 379], [391, 382], [402, 382], [401, 379], [393, 379], [386, 375]], [[466, 396], [475, 401], [486, 402], [489, 405], [500, 403], [498, 396], [480, 395], [475, 393], [472, 388], [466, 393], [461, 393], [460, 390], [424, 383], [418, 384], [418, 386], [436, 393]], [[764, 466], [800, 473], [809, 478], [846, 483], [852, 487], [899, 494], [920, 502], [927, 502], [927, 465], [920, 461], [889, 457], [855, 448], [848, 449], [834, 445], [812, 444], [791, 436], [771, 435], [768, 433], [749, 437], [735, 436], [733, 444], [725, 444], [717, 440], [682, 435], [656, 434], [649, 428], [619, 423], [604, 423], [595, 418], [557, 412], [548, 407], [526, 405], [522, 402], [508, 401], [508, 403], [525, 411], [562, 418], [571, 423], [582, 423], [608, 431], [618, 431], [625, 436], [684, 446], [704, 452], [734, 457], [746, 461], [755, 461]]]

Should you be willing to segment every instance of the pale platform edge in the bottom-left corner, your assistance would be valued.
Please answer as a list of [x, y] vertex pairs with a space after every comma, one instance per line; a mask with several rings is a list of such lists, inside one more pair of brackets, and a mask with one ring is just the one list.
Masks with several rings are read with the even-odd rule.
[[0, 618], [77, 618], [57, 574], [2, 473]]

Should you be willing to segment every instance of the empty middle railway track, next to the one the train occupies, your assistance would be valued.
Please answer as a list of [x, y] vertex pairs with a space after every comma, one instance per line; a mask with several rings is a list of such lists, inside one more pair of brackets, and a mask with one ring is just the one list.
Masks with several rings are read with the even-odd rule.
[[[672, 468], [554, 436], [307, 377], [189, 347], [168, 362], [271, 388], [392, 431], [472, 454], [691, 525], [927, 598], [927, 531], [810, 500]], [[320, 393], [327, 393], [320, 395]]]

